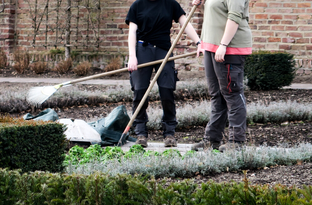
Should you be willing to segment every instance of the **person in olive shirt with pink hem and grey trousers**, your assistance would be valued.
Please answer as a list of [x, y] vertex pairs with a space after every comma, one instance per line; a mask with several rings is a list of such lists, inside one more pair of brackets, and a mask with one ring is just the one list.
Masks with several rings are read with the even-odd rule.
[[[192, 0], [204, 12], [201, 47], [205, 49], [206, 79], [211, 95], [211, 114], [201, 142], [193, 150], [212, 147], [224, 151], [239, 148], [246, 139], [244, 63], [251, 54], [248, 26], [249, 0]], [[229, 121], [229, 143], [222, 145]]]

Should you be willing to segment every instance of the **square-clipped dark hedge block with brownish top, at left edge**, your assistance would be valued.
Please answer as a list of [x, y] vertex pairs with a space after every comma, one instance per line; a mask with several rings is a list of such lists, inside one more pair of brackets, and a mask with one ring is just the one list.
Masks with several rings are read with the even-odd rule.
[[66, 125], [0, 115], [0, 167], [23, 172], [64, 170]]

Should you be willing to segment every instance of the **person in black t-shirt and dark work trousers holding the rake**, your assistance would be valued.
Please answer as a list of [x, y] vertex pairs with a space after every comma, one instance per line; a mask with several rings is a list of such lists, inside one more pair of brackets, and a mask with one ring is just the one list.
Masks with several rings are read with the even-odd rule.
[[[136, 0], [130, 7], [126, 17], [129, 25], [129, 60], [131, 89], [134, 92], [132, 112], [140, 104], [147, 88], [150, 85], [153, 69], [157, 72], [161, 64], [137, 69], [138, 64], [164, 59], [171, 47], [172, 21], [182, 26], [186, 21], [185, 12], [175, 0]], [[195, 29], [188, 23], [186, 34], [196, 42], [201, 43]], [[198, 46], [197, 57], [204, 50]], [[172, 54], [171, 54], [172, 56]], [[165, 147], [176, 146], [174, 138], [176, 120], [176, 105], [173, 91], [176, 89], [177, 71], [174, 61], [168, 61], [157, 79], [158, 90], [161, 98], [163, 115], [161, 119]], [[148, 116], [146, 109], [148, 98], [133, 122], [137, 136], [136, 144], [147, 147], [148, 130], [146, 123]]]

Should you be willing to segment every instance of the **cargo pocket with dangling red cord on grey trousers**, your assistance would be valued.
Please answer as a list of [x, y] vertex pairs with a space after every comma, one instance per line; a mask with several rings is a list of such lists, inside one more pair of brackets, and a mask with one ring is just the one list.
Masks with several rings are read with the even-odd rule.
[[241, 74], [242, 71], [240, 68], [237, 68], [236, 66], [241, 66], [241, 64], [235, 64], [235, 63], [225, 63], [227, 71], [223, 71], [223, 76], [226, 82], [226, 90], [228, 90], [229, 93], [233, 91], [240, 91], [242, 88], [242, 85], [240, 85], [240, 80], [243, 77]]

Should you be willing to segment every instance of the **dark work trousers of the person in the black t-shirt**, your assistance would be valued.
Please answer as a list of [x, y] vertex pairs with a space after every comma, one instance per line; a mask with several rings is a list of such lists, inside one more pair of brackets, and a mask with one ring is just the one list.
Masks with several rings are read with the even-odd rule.
[[[138, 42], [136, 46], [136, 58], [138, 64], [164, 59], [167, 53], [168, 51], [150, 44], [143, 46], [142, 43]], [[171, 56], [173, 55], [171, 54]], [[157, 72], [160, 65], [161, 64], [156, 64], [153, 66], [139, 68], [138, 70], [130, 73], [131, 89], [134, 92], [132, 113], [136, 111], [136, 108], [140, 104], [147, 88], [150, 85], [153, 69], [155, 69]], [[174, 101], [175, 96], [173, 93], [173, 91], [176, 89], [177, 81], [177, 72], [175, 71], [174, 65], [174, 61], [168, 61], [157, 79], [163, 110], [161, 124], [164, 138], [167, 135], [174, 136], [175, 128], [178, 124], [176, 120], [176, 104]], [[146, 128], [146, 123], [148, 122], [148, 116], [146, 113], [148, 101], [149, 98], [145, 100], [141, 110], [132, 124], [135, 127], [135, 133], [137, 136], [143, 135], [148, 137], [148, 130]]]

